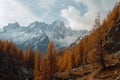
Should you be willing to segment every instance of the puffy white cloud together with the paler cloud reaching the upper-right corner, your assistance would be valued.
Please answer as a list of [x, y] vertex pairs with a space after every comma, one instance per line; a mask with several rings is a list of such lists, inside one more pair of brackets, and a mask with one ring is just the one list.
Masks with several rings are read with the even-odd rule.
[[106, 17], [108, 12], [112, 10], [114, 4], [117, 0], [74, 0], [76, 5], [83, 3], [88, 9], [86, 13], [82, 16], [80, 15], [80, 10], [76, 9], [74, 6], [69, 6], [68, 8], [62, 9], [61, 16], [65, 18], [71, 28], [73, 29], [87, 29], [91, 30], [94, 24], [94, 20], [100, 12], [101, 21]]

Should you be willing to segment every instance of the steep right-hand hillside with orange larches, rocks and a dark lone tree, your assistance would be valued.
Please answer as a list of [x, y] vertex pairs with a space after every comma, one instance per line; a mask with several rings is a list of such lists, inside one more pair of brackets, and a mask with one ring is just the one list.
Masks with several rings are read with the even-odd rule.
[[61, 72], [55, 77], [66, 80], [120, 80], [119, 34], [120, 2], [102, 25], [82, 38], [78, 45], [61, 52], [58, 61]]

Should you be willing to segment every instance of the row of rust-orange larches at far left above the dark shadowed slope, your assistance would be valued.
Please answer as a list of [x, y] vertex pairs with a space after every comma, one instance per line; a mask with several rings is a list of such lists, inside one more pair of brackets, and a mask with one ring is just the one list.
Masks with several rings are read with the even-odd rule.
[[32, 49], [22, 51], [13, 42], [0, 40], [0, 53], [19, 59], [33, 68], [35, 52]]

